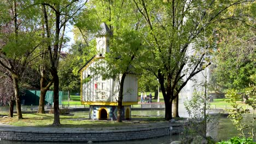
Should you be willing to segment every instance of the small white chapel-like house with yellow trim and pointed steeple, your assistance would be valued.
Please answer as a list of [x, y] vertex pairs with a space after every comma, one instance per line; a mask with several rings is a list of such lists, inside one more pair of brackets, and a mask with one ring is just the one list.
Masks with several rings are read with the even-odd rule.
[[[81, 79], [81, 103], [90, 105], [90, 119], [117, 119], [117, 100], [119, 94], [118, 79], [103, 80], [101, 75], [93, 74], [91, 67], [104, 61], [106, 52], [109, 52], [109, 37], [112, 33], [106, 23], [101, 24], [101, 31], [96, 38], [97, 55], [92, 57], [82, 69]], [[86, 82], [84, 79], [90, 77]], [[125, 77], [123, 92], [123, 107], [121, 118], [131, 119], [131, 105], [138, 103], [138, 79], [136, 74], [130, 73]]]

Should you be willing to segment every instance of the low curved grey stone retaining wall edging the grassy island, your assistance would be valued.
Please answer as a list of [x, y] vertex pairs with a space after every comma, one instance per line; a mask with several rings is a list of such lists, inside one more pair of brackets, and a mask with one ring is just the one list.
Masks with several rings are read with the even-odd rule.
[[[86, 141], [122, 141], [151, 139], [153, 137], [176, 134], [180, 126], [154, 126], [150, 128], [119, 129], [119, 130], [73, 130], [73, 131], [40, 131], [40, 130], [1, 130], [0, 138], [15, 141], [48, 141], [48, 142], [86, 142]], [[35, 128], [36, 129], [36, 128]], [[40, 128], [38, 128], [40, 129]]]

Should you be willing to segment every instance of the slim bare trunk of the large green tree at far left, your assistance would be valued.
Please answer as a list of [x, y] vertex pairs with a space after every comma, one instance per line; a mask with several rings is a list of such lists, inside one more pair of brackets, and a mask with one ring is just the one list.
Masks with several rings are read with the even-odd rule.
[[13, 75], [13, 88], [16, 101], [17, 118], [22, 119], [18, 77], [16, 75]]

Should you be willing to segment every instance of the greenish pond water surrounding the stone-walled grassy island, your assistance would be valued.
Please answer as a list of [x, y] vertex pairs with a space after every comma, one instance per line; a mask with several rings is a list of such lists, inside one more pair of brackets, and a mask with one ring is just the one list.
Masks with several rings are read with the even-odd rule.
[[[89, 112], [85, 111], [85, 112], [72, 112], [74, 113], [74, 115], [85, 115], [88, 116], [89, 118]], [[165, 111], [164, 110], [144, 110], [144, 111], [132, 111], [132, 115], [133, 116], [152, 116], [152, 117], [164, 117], [165, 116]], [[245, 120], [248, 119], [252, 119], [253, 115], [246, 115], [245, 116]], [[225, 118], [225, 117], [220, 117], [218, 119], [217, 123], [212, 123], [209, 124], [210, 127], [209, 129], [211, 129], [211, 131], [208, 133], [208, 135], [211, 135], [214, 139], [216, 140], [228, 140], [233, 136], [236, 136], [237, 134], [239, 134], [239, 131], [236, 130], [235, 126], [232, 125], [232, 122], [230, 121], [229, 118]], [[254, 124], [256, 125], [256, 124]], [[256, 129], [256, 126], [254, 128], [254, 130]], [[133, 141], [114, 141], [114, 142], [98, 142], [98, 144], [118, 144], [118, 143], [123, 143], [123, 144], [135, 144], [135, 143], [147, 143], [147, 144], [167, 144], [167, 143], [171, 143], [171, 141], [174, 140], [179, 140], [179, 135], [171, 135], [171, 136], [163, 136], [163, 137], [157, 137], [154, 139], [147, 139], [147, 140], [133, 140]], [[16, 142], [16, 141], [5, 141], [2, 140], [0, 143], [3, 144], [32, 144], [32, 143], [36, 143], [36, 144], [53, 144], [51, 142]], [[56, 142], [54, 142], [56, 143]], [[68, 143], [68, 142], [65, 142]], [[56, 144], [65, 144], [65, 143], [56, 143]], [[70, 142], [70, 143], [74, 143], [74, 142]], [[94, 142], [96, 143], [96, 142]]]

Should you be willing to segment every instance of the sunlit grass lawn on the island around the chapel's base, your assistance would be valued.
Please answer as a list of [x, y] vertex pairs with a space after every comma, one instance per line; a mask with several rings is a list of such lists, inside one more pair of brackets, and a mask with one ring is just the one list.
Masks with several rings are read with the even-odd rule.
[[[0, 113], [0, 115], [8, 115], [8, 113]], [[4, 124], [15, 125], [19, 127], [52, 127], [54, 121], [53, 114], [22, 114], [23, 119], [19, 120], [14, 114], [13, 118], [2, 118], [0, 117], [0, 122]], [[164, 118], [159, 117], [132, 117], [133, 121], [138, 120], [139, 123], [132, 123], [132, 121], [124, 121], [123, 123], [118, 123], [116, 121], [96, 121], [88, 119], [88, 116], [60, 116], [60, 127], [67, 128], [102, 128], [104, 127], [118, 127], [118, 126], [129, 126], [141, 123], [149, 122], [160, 122], [164, 121]]]

